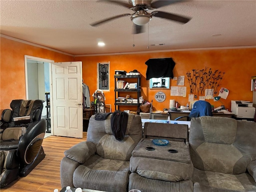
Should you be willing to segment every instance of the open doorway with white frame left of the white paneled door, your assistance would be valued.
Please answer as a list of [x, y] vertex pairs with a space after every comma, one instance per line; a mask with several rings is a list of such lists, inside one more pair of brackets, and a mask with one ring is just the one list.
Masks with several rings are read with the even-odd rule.
[[51, 132], [50, 120], [50, 84], [51, 63], [53, 60], [25, 55], [26, 99], [44, 100], [42, 117], [46, 119], [46, 134]]

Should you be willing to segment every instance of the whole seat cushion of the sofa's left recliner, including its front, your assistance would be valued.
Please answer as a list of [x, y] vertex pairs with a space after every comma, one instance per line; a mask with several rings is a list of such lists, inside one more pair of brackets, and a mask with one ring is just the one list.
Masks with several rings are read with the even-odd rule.
[[91, 156], [73, 174], [74, 187], [100, 191], [126, 192], [130, 170], [129, 161]]

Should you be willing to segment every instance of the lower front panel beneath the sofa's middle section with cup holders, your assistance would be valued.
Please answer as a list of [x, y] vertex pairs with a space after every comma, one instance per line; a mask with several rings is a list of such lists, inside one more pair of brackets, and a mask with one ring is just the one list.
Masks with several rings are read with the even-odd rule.
[[129, 176], [129, 189], [139, 189], [144, 192], [192, 192], [193, 182], [191, 180], [179, 182], [166, 182], [142, 177], [137, 173]]

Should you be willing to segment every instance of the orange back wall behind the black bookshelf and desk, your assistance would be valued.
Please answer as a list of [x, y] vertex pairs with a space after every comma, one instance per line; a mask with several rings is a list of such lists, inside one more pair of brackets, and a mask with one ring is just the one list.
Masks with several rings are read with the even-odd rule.
[[[225, 72], [221, 86], [229, 90], [226, 100], [222, 99], [225, 107], [230, 110], [231, 100], [248, 100], [252, 102], [252, 91], [250, 91], [250, 78], [256, 75], [256, 48], [242, 49], [219, 49], [219, 50], [191, 50], [176, 52], [158, 52], [145, 54], [123, 54], [107, 56], [86, 56], [76, 57], [76, 61], [82, 61], [82, 75], [84, 83], [89, 86], [90, 93], [97, 89], [97, 62], [104, 63], [110, 61], [110, 92], [104, 92], [106, 104], [112, 105], [114, 110], [114, 70], [138, 70], [141, 73], [142, 96], [146, 100], [153, 100], [153, 106], [157, 110], [169, 107], [169, 100], [178, 101], [179, 105], [188, 103], [189, 85], [185, 79], [184, 86], [187, 87], [186, 97], [170, 96], [170, 89], [149, 89], [149, 80], [146, 80], [147, 66], [145, 62], [149, 58], [172, 57], [176, 65], [174, 67], [174, 76], [184, 75], [192, 69], [203, 69], [205, 67], [212, 70]], [[171, 86], [176, 86], [176, 81], [171, 80]], [[221, 88], [221, 87], [220, 87]], [[219, 89], [220, 89], [219, 88]], [[161, 90], [166, 94], [166, 100], [162, 103], [154, 99], [156, 92]], [[130, 92], [129, 92], [130, 94]], [[214, 95], [216, 96], [216, 95]], [[92, 100], [92, 98], [91, 98]], [[220, 106], [220, 102], [207, 100], [214, 106]], [[121, 108], [125, 110], [124, 108]], [[136, 110], [134, 108], [127, 108]]]

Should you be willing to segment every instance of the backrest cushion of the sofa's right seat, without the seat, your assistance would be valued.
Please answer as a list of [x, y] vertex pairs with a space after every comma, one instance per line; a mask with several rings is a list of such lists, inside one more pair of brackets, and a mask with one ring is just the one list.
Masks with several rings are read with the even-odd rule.
[[256, 123], [224, 117], [192, 118], [190, 155], [194, 167], [240, 174], [256, 160]]

